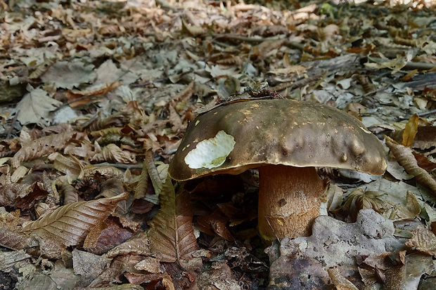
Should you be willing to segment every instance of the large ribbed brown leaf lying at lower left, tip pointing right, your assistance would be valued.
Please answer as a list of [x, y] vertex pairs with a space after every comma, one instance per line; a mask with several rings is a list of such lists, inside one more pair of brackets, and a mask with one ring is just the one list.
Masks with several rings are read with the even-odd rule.
[[118, 202], [127, 197], [128, 194], [124, 193], [116, 197], [60, 206], [56, 211], [25, 225], [22, 232], [36, 233], [61, 246], [74, 246], [83, 242], [92, 228], [105, 220], [115, 210]]

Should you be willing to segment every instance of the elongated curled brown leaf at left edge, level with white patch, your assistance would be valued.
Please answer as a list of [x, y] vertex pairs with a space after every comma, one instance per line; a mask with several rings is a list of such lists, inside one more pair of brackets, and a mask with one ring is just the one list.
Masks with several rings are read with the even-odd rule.
[[37, 159], [47, 154], [59, 151], [71, 140], [79, 140], [84, 133], [69, 131], [50, 136], [45, 136], [23, 144], [22, 148], [12, 158], [13, 168], [20, 166], [20, 162]]

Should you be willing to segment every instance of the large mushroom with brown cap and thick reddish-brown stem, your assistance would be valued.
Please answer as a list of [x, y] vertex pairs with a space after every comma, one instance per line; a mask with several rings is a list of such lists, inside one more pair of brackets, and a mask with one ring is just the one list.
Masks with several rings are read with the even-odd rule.
[[169, 176], [191, 180], [259, 168], [259, 235], [311, 235], [328, 181], [316, 167], [382, 175], [385, 151], [358, 119], [297, 100], [224, 104], [196, 117], [169, 165]]

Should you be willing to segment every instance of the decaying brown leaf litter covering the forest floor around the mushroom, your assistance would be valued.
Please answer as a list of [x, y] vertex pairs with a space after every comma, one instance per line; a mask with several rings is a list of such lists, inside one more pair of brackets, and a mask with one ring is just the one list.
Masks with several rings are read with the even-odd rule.
[[[433, 289], [432, 3], [0, 6], [4, 289]], [[269, 247], [256, 171], [167, 177], [198, 112], [265, 81], [388, 153], [382, 177], [319, 169], [329, 216]]]

